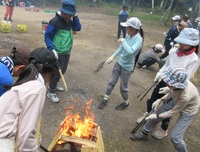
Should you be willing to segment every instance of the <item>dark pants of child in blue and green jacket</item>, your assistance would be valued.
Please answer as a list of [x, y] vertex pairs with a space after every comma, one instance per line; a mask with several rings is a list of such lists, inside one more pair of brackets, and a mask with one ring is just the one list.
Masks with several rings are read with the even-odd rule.
[[[67, 71], [69, 58], [70, 58], [70, 54], [58, 55], [58, 63], [59, 63], [59, 67], [61, 68], [62, 74], [65, 74], [65, 72]], [[49, 82], [49, 90], [51, 91], [56, 90], [57, 83], [60, 80], [60, 73], [58, 70], [59, 69], [56, 68], [55, 74], [53, 78], [51, 79], [51, 81]]]

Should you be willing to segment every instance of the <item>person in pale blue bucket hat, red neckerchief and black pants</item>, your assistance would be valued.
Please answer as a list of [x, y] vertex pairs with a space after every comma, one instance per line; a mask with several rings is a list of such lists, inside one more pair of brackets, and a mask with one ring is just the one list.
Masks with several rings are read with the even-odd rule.
[[[175, 41], [179, 43], [179, 48], [174, 47], [170, 50], [164, 66], [156, 74], [154, 81], [158, 81], [159, 83], [154, 88], [151, 97], [147, 100], [147, 112], [145, 112], [144, 116], [137, 120], [138, 123], [145, 117], [146, 114], [151, 112], [152, 104], [157, 99], [163, 97], [163, 94], [160, 94], [159, 92], [162, 92], [163, 87], [166, 87], [166, 83], [164, 81], [160, 81], [160, 75], [164, 73], [168, 67], [179, 65], [185, 68], [188, 72], [188, 80], [192, 78], [199, 67], [200, 60], [197, 56], [199, 48], [199, 31], [193, 28], [185, 28], [181, 31], [180, 35], [175, 38]], [[169, 118], [164, 119], [161, 127], [155, 130], [152, 134], [153, 137], [162, 139], [167, 136], [169, 122]]]

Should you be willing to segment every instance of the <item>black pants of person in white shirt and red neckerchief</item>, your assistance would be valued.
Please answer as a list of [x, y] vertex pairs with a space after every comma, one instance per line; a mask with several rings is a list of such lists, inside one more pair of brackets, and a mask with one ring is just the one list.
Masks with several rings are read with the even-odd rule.
[[[160, 99], [164, 96], [164, 94], [159, 94], [159, 89], [162, 87], [166, 87], [166, 83], [164, 81], [161, 81], [160, 83], [158, 83], [155, 87], [155, 89], [153, 90], [152, 94], [151, 94], [151, 98], [147, 100], [147, 112], [150, 112], [152, 110], [152, 104], [157, 100]], [[169, 122], [170, 122], [170, 118], [166, 118], [164, 120], [162, 120], [162, 124], [161, 124], [161, 128], [163, 130], [167, 130], [168, 126], [169, 126]]]

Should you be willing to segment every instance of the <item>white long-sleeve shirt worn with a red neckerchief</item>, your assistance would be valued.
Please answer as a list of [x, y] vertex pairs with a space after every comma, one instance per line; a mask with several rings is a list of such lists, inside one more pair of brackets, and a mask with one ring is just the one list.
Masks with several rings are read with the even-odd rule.
[[169, 52], [169, 55], [166, 59], [166, 62], [164, 66], [159, 70], [159, 74], [162, 74], [165, 72], [165, 70], [169, 66], [175, 66], [178, 65], [180, 67], [183, 67], [188, 72], [187, 79], [190, 80], [194, 73], [196, 72], [197, 68], [199, 67], [200, 60], [195, 52], [193, 52], [190, 55], [183, 55], [178, 56], [177, 55], [177, 48], [172, 48]]

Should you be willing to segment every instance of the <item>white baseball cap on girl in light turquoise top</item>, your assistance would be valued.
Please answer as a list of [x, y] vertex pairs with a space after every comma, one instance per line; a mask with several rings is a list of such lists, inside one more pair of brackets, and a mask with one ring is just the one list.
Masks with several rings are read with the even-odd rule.
[[131, 17], [130, 19], [128, 19], [128, 21], [121, 23], [121, 26], [124, 27], [133, 27], [134, 29], [140, 29], [142, 26], [142, 23], [140, 22], [140, 20], [137, 17]]

